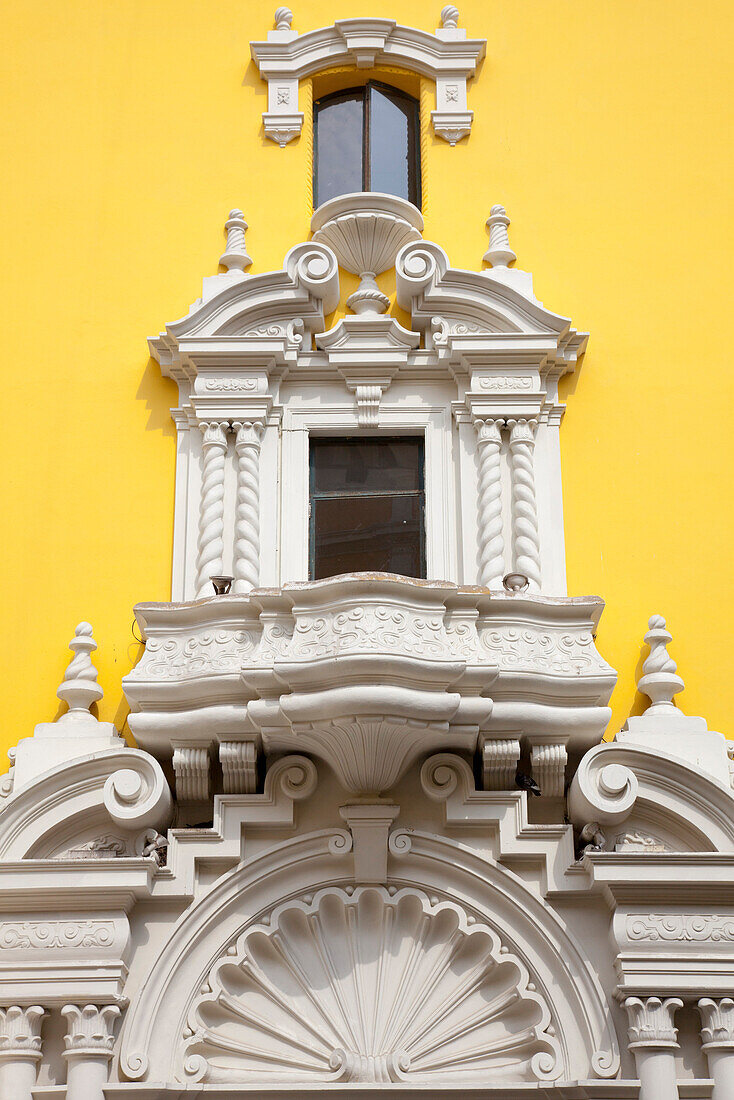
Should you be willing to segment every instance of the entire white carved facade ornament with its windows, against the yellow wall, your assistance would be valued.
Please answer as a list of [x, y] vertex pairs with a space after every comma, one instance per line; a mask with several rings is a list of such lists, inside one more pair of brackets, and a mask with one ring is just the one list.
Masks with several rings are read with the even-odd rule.
[[11, 750], [2, 1100], [734, 1098], [727, 743], [676, 705], [659, 614], [610, 728], [563, 535], [589, 337], [510, 207], [474, 268], [428, 235], [491, 40], [397, 14], [278, 8], [250, 43], [247, 124], [263, 158], [303, 145], [314, 209], [264, 272], [231, 209], [149, 341], [172, 594], [134, 608], [134, 747], [81, 622]]

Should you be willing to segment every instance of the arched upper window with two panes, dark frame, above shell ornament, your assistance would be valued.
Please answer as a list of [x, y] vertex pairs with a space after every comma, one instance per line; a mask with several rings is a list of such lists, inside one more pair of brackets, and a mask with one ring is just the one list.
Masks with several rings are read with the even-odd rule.
[[384, 84], [314, 105], [314, 206], [352, 191], [384, 191], [420, 206], [418, 102]]

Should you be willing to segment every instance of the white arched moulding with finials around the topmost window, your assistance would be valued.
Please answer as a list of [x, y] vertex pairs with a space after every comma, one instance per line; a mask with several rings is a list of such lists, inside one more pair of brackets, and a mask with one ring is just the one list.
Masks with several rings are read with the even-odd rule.
[[445, 8], [435, 34], [392, 19], [339, 19], [333, 26], [298, 34], [291, 30], [293, 13], [278, 8], [276, 29], [269, 32], [267, 41], [250, 43], [252, 59], [267, 81], [266, 136], [284, 147], [300, 134], [304, 116], [298, 110], [298, 86], [305, 77], [337, 65], [358, 69], [398, 65], [435, 82], [434, 131], [456, 145], [471, 131], [467, 82], [486, 46], [484, 38], [468, 38], [465, 30], [457, 26], [458, 14], [456, 8]]

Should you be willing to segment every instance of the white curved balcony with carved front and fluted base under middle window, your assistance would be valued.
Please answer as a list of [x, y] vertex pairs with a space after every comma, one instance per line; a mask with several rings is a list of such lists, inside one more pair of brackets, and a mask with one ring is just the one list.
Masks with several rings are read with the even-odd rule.
[[162, 759], [185, 745], [213, 759], [242, 740], [307, 752], [357, 794], [388, 791], [429, 752], [473, 752], [480, 737], [574, 754], [609, 721], [601, 608], [388, 573], [140, 605], [130, 727]]

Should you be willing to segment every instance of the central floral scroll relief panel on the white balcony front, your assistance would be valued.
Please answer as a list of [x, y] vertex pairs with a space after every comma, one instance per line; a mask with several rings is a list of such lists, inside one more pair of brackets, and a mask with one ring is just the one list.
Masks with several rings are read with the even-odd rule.
[[451, 645], [441, 615], [374, 604], [299, 619], [289, 657], [327, 657], [350, 650], [446, 658]]

